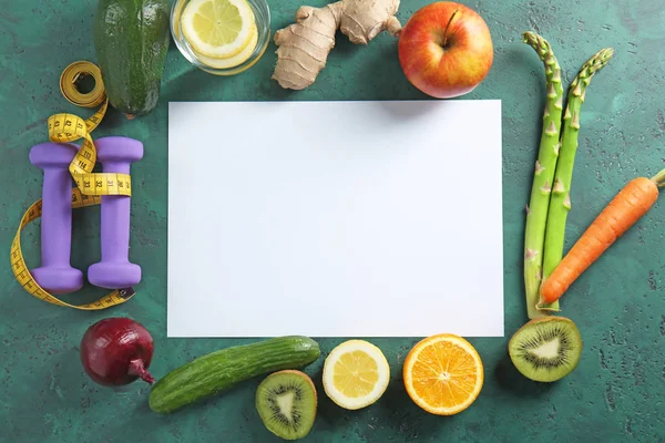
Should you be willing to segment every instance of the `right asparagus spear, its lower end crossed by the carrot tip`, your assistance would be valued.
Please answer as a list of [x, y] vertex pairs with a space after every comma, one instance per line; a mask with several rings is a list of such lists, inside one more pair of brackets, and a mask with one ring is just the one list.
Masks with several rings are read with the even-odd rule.
[[[559, 265], [563, 257], [563, 244], [565, 234], [565, 222], [571, 209], [571, 183], [573, 178], [573, 165], [577, 152], [577, 137], [580, 135], [580, 111], [586, 94], [586, 87], [593, 75], [602, 70], [614, 50], [606, 48], [595, 53], [580, 70], [567, 93], [567, 106], [563, 116], [563, 133], [561, 135], [561, 150], [559, 163], [554, 175], [552, 197], [550, 199], [550, 212], [548, 213], [548, 229], [545, 230], [545, 245], [543, 256], [543, 280], [546, 279]], [[539, 309], [554, 309], [555, 303], [542, 303]]]

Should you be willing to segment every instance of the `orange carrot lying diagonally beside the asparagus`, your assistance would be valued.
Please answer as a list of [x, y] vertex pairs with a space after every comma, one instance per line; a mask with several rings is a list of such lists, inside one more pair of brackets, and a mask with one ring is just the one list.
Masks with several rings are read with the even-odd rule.
[[651, 179], [638, 177], [624, 186], [543, 282], [542, 301], [559, 300], [582, 272], [651, 209], [663, 185], [665, 169]]

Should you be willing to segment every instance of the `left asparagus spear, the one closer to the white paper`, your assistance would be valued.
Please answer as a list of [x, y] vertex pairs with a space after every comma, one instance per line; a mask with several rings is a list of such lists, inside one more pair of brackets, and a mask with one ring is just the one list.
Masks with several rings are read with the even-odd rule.
[[543, 61], [548, 89], [545, 112], [543, 114], [543, 133], [538, 161], [535, 162], [531, 200], [526, 207], [526, 230], [524, 234], [526, 311], [529, 318], [534, 319], [546, 315], [538, 310], [536, 305], [540, 300], [539, 290], [542, 278], [543, 244], [550, 194], [561, 146], [559, 134], [563, 113], [563, 87], [561, 85], [561, 68], [550, 43], [534, 32], [524, 32], [523, 42], [533, 48]]

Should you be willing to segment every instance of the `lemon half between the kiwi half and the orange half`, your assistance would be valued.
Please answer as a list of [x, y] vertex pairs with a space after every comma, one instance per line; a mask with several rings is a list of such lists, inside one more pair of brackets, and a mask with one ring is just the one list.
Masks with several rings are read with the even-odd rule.
[[390, 367], [379, 348], [349, 340], [326, 358], [324, 390], [341, 408], [357, 410], [375, 403], [386, 392]]

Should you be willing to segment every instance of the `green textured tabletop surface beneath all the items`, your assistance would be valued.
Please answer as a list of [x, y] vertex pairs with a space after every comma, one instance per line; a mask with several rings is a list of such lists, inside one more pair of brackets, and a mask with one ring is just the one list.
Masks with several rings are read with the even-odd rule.
[[[325, 1], [307, 3], [320, 6]], [[403, 1], [398, 18], [406, 22], [426, 3]], [[541, 63], [520, 42], [520, 35], [533, 29], [548, 38], [566, 81], [596, 50], [610, 45], [616, 49], [615, 59], [590, 86], [582, 112], [573, 212], [569, 218], [570, 246], [625, 182], [665, 167], [663, 2], [469, 0], [464, 3], [487, 20], [495, 45], [489, 78], [467, 99], [503, 101], [507, 337], [471, 340], [483, 359], [485, 383], [473, 406], [452, 418], [421, 412], [402, 389], [401, 363], [418, 338], [374, 340], [391, 363], [388, 392], [377, 404], [357, 412], [344, 411], [321, 395], [308, 441], [662, 442], [665, 439], [663, 202], [563, 299], [564, 315], [579, 324], [585, 342], [576, 371], [555, 384], [528, 381], [512, 368], [507, 343], [525, 321], [523, 208], [529, 198], [544, 94]], [[28, 151], [45, 141], [47, 117], [61, 111], [90, 114], [64, 101], [58, 80], [70, 62], [95, 60], [90, 39], [94, 4], [92, 0], [0, 1], [0, 245], [7, 254], [21, 214], [40, 197], [41, 172], [30, 165]], [[289, 23], [303, 3], [269, 0], [269, 4], [274, 31]], [[254, 391], [259, 380], [163, 418], [147, 408], [147, 385], [137, 382], [117, 392], [98, 387], [84, 375], [79, 362], [83, 332], [96, 320], [110, 316], [132, 317], [152, 331], [156, 353], [151, 370], [157, 378], [194, 357], [246, 342], [165, 337], [168, 101], [426, 99], [405, 80], [396, 41], [386, 34], [366, 48], [355, 47], [341, 37], [317, 82], [298, 93], [283, 91], [270, 81], [274, 51], [270, 44], [258, 64], [244, 74], [225, 79], [195, 70], [172, 43], [158, 107], [133, 122], [110, 112], [94, 133], [96, 137], [114, 134], [144, 142], [145, 156], [132, 169], [131, 240], [131, 259], [143, 267], [144, 279], [137, 286], [139, 295], [126, 305], [91, 313], [38, 301], [14, 281], [9, 260], [1, 267], [0, 441], [274, 440], [254, 410]], [[479, 131], [482, 124], [478, 122]], [[469, 179], [480, 178], [469, 171]], [[475, 197], [482, 204], [483, 196]], [[444, 199], [442, 192], [441, 204]], [[450, 208], [450, 214], [464, 216], [456, 214], [454, 208]], [[31, 267], [39, 262], [38, 226], [33, 224], [24, 231], [22, 243]], [[75, 267], [85, 269], [98, 260], [99, 208], [75, 213], [73, 243]], [[92, 300], [102, 293], [86, 287], [66, 300]], [[421, 309], [430, 307], [409, 306], [405, 295], [405, 321], [418, 321]], [[441, 324], [441, 331], [446, 330], [446, 324]], [[324, 354], [341, 340], [320, 340]], [[308, 369], [319, 389], [323, 360]]]

